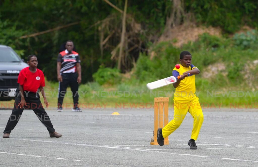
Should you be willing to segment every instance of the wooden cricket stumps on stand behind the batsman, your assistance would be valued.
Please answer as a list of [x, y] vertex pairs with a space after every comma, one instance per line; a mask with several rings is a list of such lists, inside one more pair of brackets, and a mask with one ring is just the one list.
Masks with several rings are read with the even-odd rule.
[[[157, 131], [158, 128], [163, 128], [168, 124], [168, 97], [155, 97], [154, 98], [154, 142], [151, 145], [158, 145]], [[164, 140], [164, 145], [168, 145], [168, 137]]]

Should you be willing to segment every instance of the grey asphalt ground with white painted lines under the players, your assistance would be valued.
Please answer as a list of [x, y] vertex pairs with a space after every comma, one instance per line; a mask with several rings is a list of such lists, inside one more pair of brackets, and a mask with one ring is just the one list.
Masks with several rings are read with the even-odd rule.
[[[193, 124], [189, 113], [169, 136], [170, 145], [160, 147], [149, 144], [153, 109], [46, 112], [63, 136], [50, 138], [34, 112], [25, 110], [10, 138], [0, 138], [0, 166], [258, 166], [255, 109], [203, 109], [197, 150], [187, 145]], [[0, 110], [2, 132], [10, 114]]]

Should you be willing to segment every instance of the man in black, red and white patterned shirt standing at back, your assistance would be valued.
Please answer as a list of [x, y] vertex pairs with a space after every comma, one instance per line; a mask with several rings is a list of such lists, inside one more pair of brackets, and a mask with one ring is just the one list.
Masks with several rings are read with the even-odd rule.
[[[69, 85], [72, 91], [74, 100], [74, 107], [72, 111], [81, 112], [78, 107], [78, 88], [79, 83], [82, 81], [80, 57], [74, 49], [72, 41], [66, 42], [66, 50], [60, 52], [57, 57], [57, 79], [59, 81], [58, 88], [58, 112], [62, 111], [63, 98], [66, 94], [67, 86]], [[78, 74], [77, 74], [77, 73]]]

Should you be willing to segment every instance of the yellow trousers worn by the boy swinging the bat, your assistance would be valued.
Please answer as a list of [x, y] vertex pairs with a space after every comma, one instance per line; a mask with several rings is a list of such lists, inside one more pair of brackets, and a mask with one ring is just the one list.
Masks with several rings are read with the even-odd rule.
[[166, 138], [173, 133], [181, 125], [187, 112], [189, 112], [193, 117], [191, 138], [193, 140], [197, 140], [201, 125], [203, 123], [203, 111], [201, 110], [199, 98], [195, 94], [190, 94], [187, 96], [175, 96], [175, 94], [174, 119], [162, 129], [162, 135], [164, 138]]

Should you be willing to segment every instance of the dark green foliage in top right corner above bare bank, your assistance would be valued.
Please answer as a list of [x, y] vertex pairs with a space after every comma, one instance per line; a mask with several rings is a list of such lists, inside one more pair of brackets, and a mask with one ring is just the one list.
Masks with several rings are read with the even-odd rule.
[[186, 0], [185, 5], [198, 22], [220, 26], [227, 33], [233, 33], [243, 25], [257, 27], [257, 1]]

